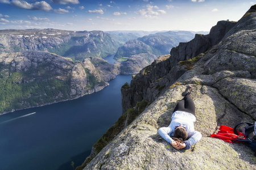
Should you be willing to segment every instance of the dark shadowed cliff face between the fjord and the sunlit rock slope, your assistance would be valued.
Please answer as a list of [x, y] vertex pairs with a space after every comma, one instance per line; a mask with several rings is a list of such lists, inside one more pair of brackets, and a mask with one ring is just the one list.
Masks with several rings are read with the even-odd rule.
[[[171, 49], [169, 56], [161, 56], [150, 66], [144, 67], [131, 81], [131, 94], [127, 94], [127, 90], [123, 91], [123, 113], [130, 107], [135, 107], [138, 101], [154, 101], [165, 87], [171, 86], [185, 71], [191, 69], [185, 66], [185, 63], [177, 65], [180, 61], [203, 56], [203, 53], [220, 42], [235, 24], [236, 22], [220, 21], [212, 27], [209, 35], [197, 34], [189, 42], [180, 42], [179, 46]], [[168, 76], [168, 79], [163, 79], [163, 76]]]

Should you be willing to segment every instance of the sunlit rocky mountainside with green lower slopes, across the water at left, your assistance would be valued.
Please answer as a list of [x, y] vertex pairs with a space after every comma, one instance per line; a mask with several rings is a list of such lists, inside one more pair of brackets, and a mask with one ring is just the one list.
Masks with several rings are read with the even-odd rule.
[[82, 62], [47, 52], [0, 56], [0, 114], [76, 99], [102, 90], [118, 70], [104, 59]]

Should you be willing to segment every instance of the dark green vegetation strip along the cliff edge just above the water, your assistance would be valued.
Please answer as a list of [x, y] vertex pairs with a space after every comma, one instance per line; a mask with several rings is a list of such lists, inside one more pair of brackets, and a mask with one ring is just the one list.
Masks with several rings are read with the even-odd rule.
[[[130, 125], [131, 122], [133, 122], [150, 104], [151, 103], [147, 100], [142, 100], [136, 104], [135, 109], [130, 108], [126, 113], [122, 114], [118, 121], [115, 122], [115, 124], [111, 126], [96, 143], [94, 143], [93, 147], [96, 148], [96, 155], [125, 128], [125, 125]], [[92, 159], [93, 158], [86, 159], [86, 162], [77, 167], [76, 170], [83, 169]]]

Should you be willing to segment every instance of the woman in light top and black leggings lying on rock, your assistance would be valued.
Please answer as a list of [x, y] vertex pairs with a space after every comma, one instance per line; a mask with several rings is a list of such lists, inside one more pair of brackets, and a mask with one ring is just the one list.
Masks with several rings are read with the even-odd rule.
[[[167, 142], [180, 150], [181, 148], [191, 148], [197, 143], [202, 135], [199, 131], [195, 131], [194, 122], [195, 117], [195, 103], [191, 99], [191, 87], [187, 87], [181, 94], [184, 96], [182, 100], [177, 103], [172, 114], [172, 121], [168, 127], [160, 128], [158, 133]], [[172, 139], [171, 137], [174, 137]]]

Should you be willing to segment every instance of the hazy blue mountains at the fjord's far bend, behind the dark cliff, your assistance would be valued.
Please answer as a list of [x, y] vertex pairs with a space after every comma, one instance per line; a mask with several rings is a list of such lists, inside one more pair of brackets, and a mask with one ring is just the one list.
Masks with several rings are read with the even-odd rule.
[[[195, 35], [188, 31], [158, 32], [129, 40], [119, 47], [114, 58], [121, 63], [121, 74], [138, 73], [143, 67], [150, 65], [158, 56], [170, 53], [171, 48], [179, 42], [187, 42]], [[135, 69], [136, 68], [136, 69]]]

